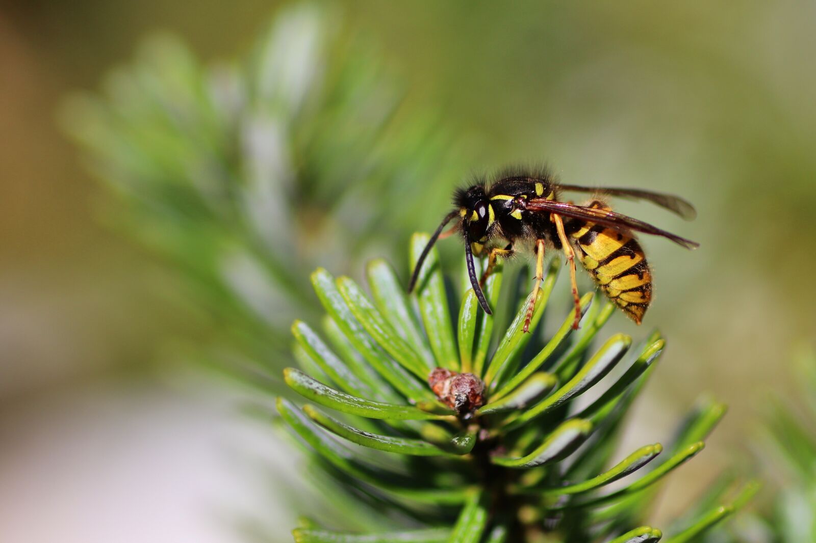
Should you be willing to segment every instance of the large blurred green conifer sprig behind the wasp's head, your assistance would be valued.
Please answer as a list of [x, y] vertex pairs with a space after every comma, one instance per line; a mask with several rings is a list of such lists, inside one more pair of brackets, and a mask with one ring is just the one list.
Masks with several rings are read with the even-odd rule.
[[462, 171], [448, 130], [404, 111], [388, 65], [338, 22], [291, 7], [213, 66], [157, 36], [64, 110], [117, 196], [106, 218], [180, 267], [222, 330], [215, 358], [261, 370], [256, 384], [286, 356], [295, 308], [309, 315], [308, 271], [399, 258]]

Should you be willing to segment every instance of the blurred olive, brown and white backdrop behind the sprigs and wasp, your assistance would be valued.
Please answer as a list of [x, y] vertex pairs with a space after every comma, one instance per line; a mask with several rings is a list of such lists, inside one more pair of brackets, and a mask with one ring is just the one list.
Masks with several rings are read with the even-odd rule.
[[[657, 281], [647, 324], [670, 347], [632, 442], [667, 439], [703, 391], [730, 405], [672, 481], [670, 514], [747, 455], [768, 391], [791, 384], [789, 352], [816, 339], [816, 5], [591, 4], [372, 0], [344, 12], [402, 73], [409, 104], [440, 108], [488, 149], [474, 170], [546, 160], [569, 183], [697, 205], [694, 223], [620, 206], [702, 244], [645, 241]], [[271, 430], [239, 413], [242, 391], [175, 360], [168, 346], [206, 336], [201, 309], [171, 267], [100, 226], [101, 188], [55, 121], [67, 92], [96, 88], [144, 33], [232, 56], [274, 10], [0, 3], [3, 541], [232, 543], [253, 516], [286, 540], [292, 514], [272, 504], [296, 477], [274, 467]]]

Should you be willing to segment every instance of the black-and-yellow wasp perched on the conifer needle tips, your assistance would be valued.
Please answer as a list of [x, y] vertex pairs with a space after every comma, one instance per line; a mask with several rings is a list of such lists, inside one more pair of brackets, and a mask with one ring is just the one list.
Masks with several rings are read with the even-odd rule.
[[[591, 199], [583, 205], [562, 201], [562, 192], [589, 192]], [[567, 185], [547, 170], [535, 173], [511, 172], [493, 183], [478, 181], [472, 187], [459, 189], [454, 195], [455, 210], [442, 219], [425, 246], [408, 291], [412, 291], [428, 252], [440, 237], [461, 232], [464, 239], [468, 277], [481, 308], [491, 314], [482, 287], [498, 258], [510, 258], [521, 251], [535, 255], [535, 282], [526, 311], [524, 331], [530, 329], [534, 303], [544, 271], [547, 249], [562, 251], [570, 267], [570, 286], [575, 306], [573, 328], [578, 329], [581, 316], [575, 259], [614, 304], [636, 324], [652, 300], [652, 274], [635, 232], [663, 236], [686, 249], [699, 246], [648, 223], [615, 213], [604, 196], [621, 196], [651, 201], [684, 219], [694, 219], [696, 211], [678, 196], [633, 188], [591, 188]], [[450, 221], [458, 222], [442, 234]], [[487, 266], [477, 278], [474, 257], [487, 256]]]

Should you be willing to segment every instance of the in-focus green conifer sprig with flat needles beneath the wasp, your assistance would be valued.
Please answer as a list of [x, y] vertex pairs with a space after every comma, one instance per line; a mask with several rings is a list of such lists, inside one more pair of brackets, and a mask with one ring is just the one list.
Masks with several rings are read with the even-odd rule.
[[[427, 241], [415, 236], [412, 261]], [[532, 294], [518, 296], [524, 289], [514, 281], [502, 288], [499, 269], [486, 294], [506, 311], [488, 316], [465, 280], [455, 281], [464, 288], [451, 297], [436, 249], [410, 297], [384, 260], [367, 268], [370, 294], [348, 277], [313, 273], [326, 310], [323, 334], [296, 321], [303, 371], [284, 372], [286, 383], [313, 404], [279, 398], [277, 409], [306, 445], [317, 495], [335, 499], [329, 511], [303, 511], [310, 520], [295, 529], [295, 541], [645, 543], [663, 537], [639, 525], [663, 477], [703, 449], [725, 406], [700, 404], [665, 451], [646, 444], [615, 458], [624, 417], [665, 341], [654, 332], [630, 349], [632, 338], [619, 333], [590, 348], [614, 311], [592, 294], [583, 297], [579, 331], [570, 309], [545, 341], [539, 321], [559, 268], [556, 259], [534, 300], [531, 333], [522, 324]], [[461, 307], [455, 327], [451, 299]], [[561, 322], [561, 315], [555, 318]], [[484, 405], [457, 413], [437, 400], [428, 377], [439, 368], [483, 381]], [[606, 386], [596, 386], [607, 375]], [[677, 521], [667, 541], [698, 541], [754, 492], [756, 483], [717, 485]]]

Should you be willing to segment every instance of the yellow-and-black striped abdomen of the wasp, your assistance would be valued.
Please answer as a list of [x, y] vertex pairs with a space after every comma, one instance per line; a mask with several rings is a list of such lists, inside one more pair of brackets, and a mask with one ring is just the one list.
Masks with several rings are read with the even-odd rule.
[[[600, 202], [596, 209], [609, 210]], [[571, 236], [578, 259], [612, 302], [641, 324], [652, 299], [652, 274], [636, 239], [610, 227], [583, 223]]]

